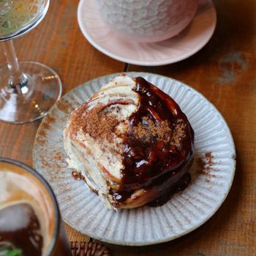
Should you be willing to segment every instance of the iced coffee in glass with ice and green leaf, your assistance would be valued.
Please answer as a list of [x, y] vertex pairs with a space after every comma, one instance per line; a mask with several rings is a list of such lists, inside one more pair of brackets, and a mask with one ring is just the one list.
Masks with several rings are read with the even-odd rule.
[[71, 255], [56, 198], [34, 170], [0, 158], [0, 255]]

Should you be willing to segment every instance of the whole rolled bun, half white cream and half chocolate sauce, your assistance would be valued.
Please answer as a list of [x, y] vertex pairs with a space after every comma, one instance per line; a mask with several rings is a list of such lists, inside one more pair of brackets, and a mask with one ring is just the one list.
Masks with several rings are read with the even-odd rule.
[[64, 148], [69, 167], [105, 206], [135, 208], [187, 187], [194, 132], [171, 97], [118, 75], [72, 113]]

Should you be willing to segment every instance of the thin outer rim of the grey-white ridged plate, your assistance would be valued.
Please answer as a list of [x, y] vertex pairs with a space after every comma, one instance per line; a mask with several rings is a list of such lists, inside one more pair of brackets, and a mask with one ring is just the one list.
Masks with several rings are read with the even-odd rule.
[[[203, 96], [203, 94], [201, 94], [199, 91], [197, 91], [196, 89], [192, 88], [191, 86], [188, 86], [186, 83], [182, 82], [182, 81], [179, 81], [179, 80], [176, 80], [176, 79], [173, 79], [173, 78], [169, 78], [165, 75], [159, 75], [159, 74], [154, 74], [154, 73], [151, 73], [151, 72], [116, 72], [116, 73], [111, 73], [111, 74], [108, 74], [108, 75], [102, 75], [98, 78], [93, 78], [91, 80], [88, 80], [86, 81], [85, 83], [81, 83], [79, 86], [76, 86], [75, 88], [69, 90], [66, 94], [64, 94], [61, 99], [65, 99], [65, 97], [67, 97], [67, 94], [72, 94], [73, 91], [77, 90], [78, 88], [81, 88], [83, 86], [86, 86], [86, 84], [88, 83], [93, 83], [94, 80], [100, 80], [102, 78], [111, 78], [111, 77], [114, 77], [116, 75], [121, 75], [121, 74], [127, 74], [127, 75], [153, 75], [153, 76], [156, 76], [156, 77], [159, 77], [159, 78], [167, 78], [169, 80], [173, 80], [175, 81], [176, 83], [180, 83], [181, 86], [184, 86], [185, 88], [187, 89], [190, 89], [192, 90], [195, 94], [198, 94], [200, 97], [202, 97], [202, 99], [204, 99], [209, 105], [211, 105], [211, 108], [213, 108], [214, 111], [216, 111], [216, 113], [219, 115], [219, 117], [222, 119], [222, 124], [224, 125], [225, 129], [226, 129], [226, 132], [227, 134], [229, 135], [229, 138], [230, 138], [230, 146], [232, 146], [232, 148], [230, 148], [230, 151], [231, 153], [233, 154], [232, 157], [230, 157], [230, 161], [232, 161], [232, 164], [233, 164], [233, 169], [231, 170], [230, 168], [230, 183], [228, 184], [228, 187], [227, 187], [227, 190], [226, 190], [226, 193], [224, 193], [224, 197], [222, 198], [222, 200], [219, 200], [219, 203], [217, 203], [217, 206], [214, 208], [214, 211], [211, 212], [211, 214], [209, 214], [205, 219], [203, 219], [203, 221], [199, 222], [197, 225], [193, 225], [192, 227], [190, 227], [189, 229], [186, 229], [184, 230], [183, 233], [179, 233], [178, 235], [175, 235], [175, 236], [172, 236], [172, 237], [169, 237], [169, 238], [165, 238], [165, 239], [154, 239], [154, 241], [146, 241], [146, 242], [127, 242], [127, 241], [124, 241], [124, 242], [121, 242], [121, 241], [114, 241], [114, 240], [109, 240], [108, 238], [102, 238], [102, 237], [99, 237], [99, 236], [95, 236], [94, 234], [88, 232], [88, 233], [85, 233], [83, 230], [80, 230], [80, 228], [78, 227], [75, 227], [75, 225], [72, 225], [66, 218], [62, 217], [61, 218], [64, 220], [64, 222], [66, 222], [70, 227], [74, 228], [75, 230], [78, 230], [78, 232], [86, 235], [86, 236], [89, 236], [91, 238], [95, 238], [99, 241], [102, 241], [102, 242], [106, 242], [108, 244], [118, 244], [118, 245], [122, 245], [122, 246], [147, 246], [147, 245], [153, 245], [153, 244], [161, 244], [161, 243], [165, 243], [165, 242], [168, 242], [168, 241], [173, 241], [174, 239], [176, 238], [180, 238], [182, 236], [185, 236], [187, 235], [188, 233], [191, 233], [192, 231], [196, 230], [198, 227], [202, 226], [203, 224], [205, 224], [208, 219], [211, 219], [211, 217], [214, 216], [214, 214], [219, 210], [220, 206], [222, 206], [222, 203], [224, 203], [224, 201], [226, 200], [227, 198], [227, 195], [229, 194], [230, 192], [230, 189], [232, 187], [232, 184], [233, 184], [233, 179], [234, 179], [234, 176], [236, 174], [236, 147], [235, 147], [235, 143], [234, 143], [234, 140], [233, 140], [233, 136], [232, 136], [232, 133], [230, 131], [230, 127], [227, 125], [227, 122], [225, 121], [225, 118], [222, 116], [222, 114], [219, 112], [219, 110], [217, 110], [217, 108], [214, 106], [214, 104], [212, 104], [205, 96]], [[59, 101], [61, 100], [59, 99]], [[58, 101], [58, 102], [59, 102]], [[58, 102], [56, 102], [51, 108], [50, 110], [48, 111], [48, 113], [51, 113], [53, 111], [54, 108], [56, 108], [56, 105], [58, 104]], [[46, 115], [47, 116], [47, 115]], [[35, 167], [36, 165], [36, 161], [35, 161], [35, 148], [36, 148], [36, 140], [37, 140], [37, 136], [39, 135], [39, 130], [42, 128], [42, 124], [44, 123], [44, 120], [45, 118], [42, 119], [41, 123], [39, 124], [39, 127], [37, 129], [37, 133], [36, 133], [36, 136], [35, 136], [35, 139], [34, 139], [34, 143], [33, 143], [33, 149], [32, 149], [32, 162], [33, 162], [33, 167], [35, 170], [37, 170], [37, 168]], [[42, 175], [42, 174], [41, 174]], [[43, 175], [42, 175], [43, 176]], [[54, 190], [53, 190], [54, 192]], [[54, 192], [55, 194], [55, 192]], [[58, 198], [57, 198], [58, 199]], [[58, 202], [59, 204], [59, 202]]]

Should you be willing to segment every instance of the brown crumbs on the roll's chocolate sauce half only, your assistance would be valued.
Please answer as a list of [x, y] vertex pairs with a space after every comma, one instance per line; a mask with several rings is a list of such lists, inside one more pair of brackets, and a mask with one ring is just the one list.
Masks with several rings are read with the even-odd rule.
[[134, 127], [132, 134], [135, 139], [143, 143], [150, 143], [156, 140], [163, 140], [165, 143], [173, 143], [179, 146], [185, 137], [186, 125], [178, 120], [175, 124], [170, 124], [167, 120], [154, 122], [148, 117], [143, 117], [137, 127]]

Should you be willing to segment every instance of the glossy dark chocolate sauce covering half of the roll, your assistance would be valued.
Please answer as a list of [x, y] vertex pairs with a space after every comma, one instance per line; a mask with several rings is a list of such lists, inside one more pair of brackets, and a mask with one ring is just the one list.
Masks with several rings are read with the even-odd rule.
[[[135, 91], [140, 95], [138, 111], [129, 117], [129, 132], [124, 140], [123, 154], [124, 170], [122, 171], [121, 191], [113, 192], [113, 197], [121, 203], [135, 189], [157, 186], [161, 198], [154, 200], [151, 205], [162, 205], [169, 200], [170, 194], [178, 187], [189, 184], [187, 173], [192, 165], [194, 155], [194, 132], [187, 116], [177, 103], [156, 86], [143, 78], [135, 78]], [[163, 140], [152, 140], [149, 143], [134, 138], [134, 127], [148, 118], [155, 124], [168, 121], [175, 124], [178, 120], [185, 124], [184, 138], [179, 146]], [[146, 124], [145, 124], [146, 125]], [[165, 198], [163, 198], [165, 197]]]

